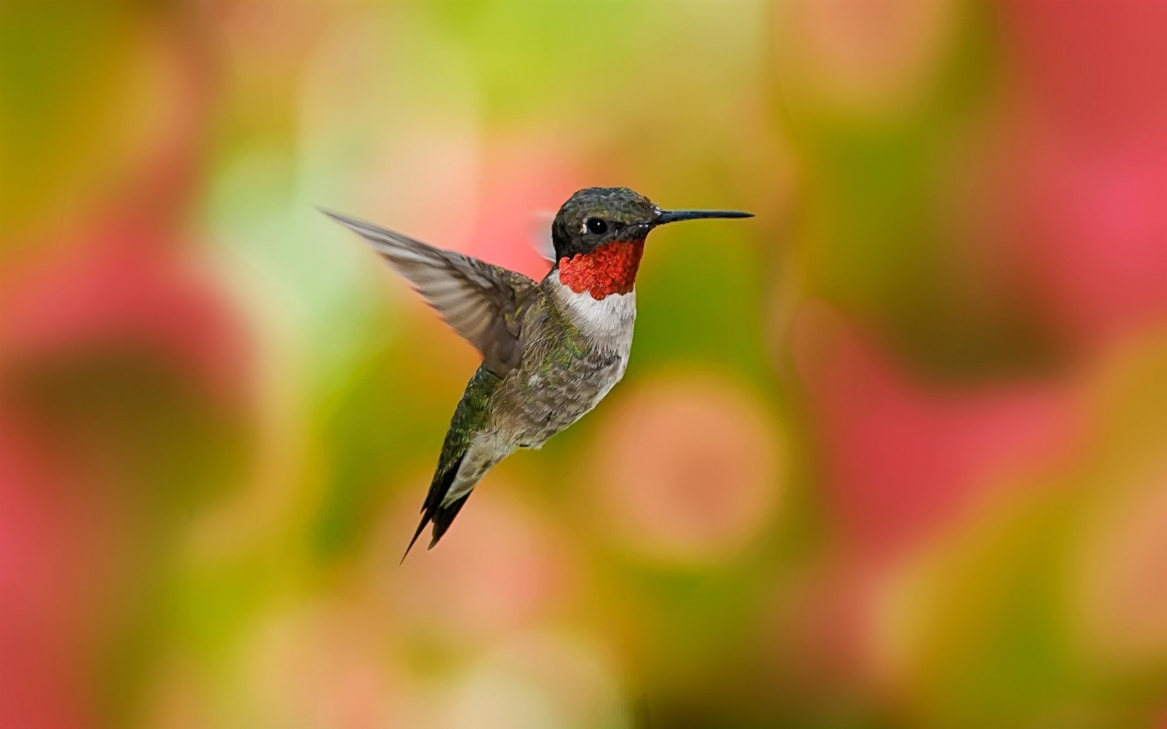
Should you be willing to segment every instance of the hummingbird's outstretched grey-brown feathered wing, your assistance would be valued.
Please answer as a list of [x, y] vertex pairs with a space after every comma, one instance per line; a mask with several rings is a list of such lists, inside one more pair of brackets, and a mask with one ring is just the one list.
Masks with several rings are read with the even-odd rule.
[[523, 311], [538, 285], [520, 273], [454, 251], [435, 248], [371, 223], [321, 210], [356, 231], [408, 279], [429, 306], [478, 348], [498, 377], [523, 358]]

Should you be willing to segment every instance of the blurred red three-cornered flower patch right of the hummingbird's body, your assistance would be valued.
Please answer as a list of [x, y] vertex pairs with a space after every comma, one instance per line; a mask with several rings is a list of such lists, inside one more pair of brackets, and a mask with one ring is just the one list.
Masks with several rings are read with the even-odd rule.
[[823, 306], [799, 313], [794, 349], [844, 541], [864, 559], [950, 524], [992, 485], [1067, 453], [1079, 434], [1068, 392], [962, 393], [911, 381]]

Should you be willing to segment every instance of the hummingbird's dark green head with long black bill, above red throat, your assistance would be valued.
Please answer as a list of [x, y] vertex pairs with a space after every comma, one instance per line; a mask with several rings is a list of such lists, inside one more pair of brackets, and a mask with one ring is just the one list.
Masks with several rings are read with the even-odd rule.
[[628, 188], [585, 188], [572, 195], [551, 224], [555, 259], [591, 253], [613, 241], [644, 240], [657, 225], [698, 218], [749, 218], [734, 210], [661, 210]]

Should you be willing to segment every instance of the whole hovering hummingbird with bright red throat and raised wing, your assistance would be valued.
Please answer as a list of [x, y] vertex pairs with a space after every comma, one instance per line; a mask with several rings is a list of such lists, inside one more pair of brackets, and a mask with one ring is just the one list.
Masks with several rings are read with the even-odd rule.
[[[749, 218], [732, 210], [661, 210], [628, 188], [586, 188], [551, 224], [554, 258], [536, 282], [337, 212], [482, 352], [450, 419], [421, 523], [441, 539], [475, 484], [519, 448], [539, 448], [596, 406], [628, 366], [636, 272], [658, 225]], [[401, 560], [405, 560], [405, 555]]]

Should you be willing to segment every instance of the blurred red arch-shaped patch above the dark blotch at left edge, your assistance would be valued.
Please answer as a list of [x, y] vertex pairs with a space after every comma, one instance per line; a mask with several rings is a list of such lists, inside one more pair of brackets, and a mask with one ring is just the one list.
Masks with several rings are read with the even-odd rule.
[[81, 240], [5, 272], [0, 350], [21, 362], [72, 358], [96, 348], [142, 346], [238, 401], [243, 332], [170, 237], [137, 220], [98, 225]]

